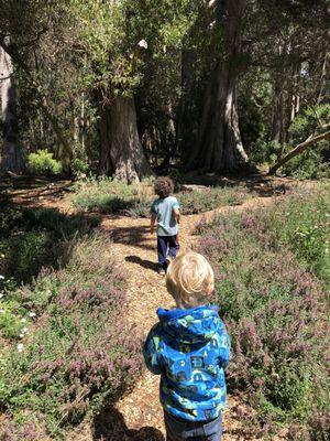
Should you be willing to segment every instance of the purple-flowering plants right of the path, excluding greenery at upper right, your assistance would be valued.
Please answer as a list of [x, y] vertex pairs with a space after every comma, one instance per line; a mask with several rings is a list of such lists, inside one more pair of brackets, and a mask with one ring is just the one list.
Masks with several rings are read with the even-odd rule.
[[196, 249], [215, 269], [215, 301], [231, 334], [229, 387], [254, 402], [264, 430], [273, 430], [310, 424], [316, 409], [322, 415], [329, 325], [322, 283], [272, 236], [264, 216], [218, 216], [202, 225]]

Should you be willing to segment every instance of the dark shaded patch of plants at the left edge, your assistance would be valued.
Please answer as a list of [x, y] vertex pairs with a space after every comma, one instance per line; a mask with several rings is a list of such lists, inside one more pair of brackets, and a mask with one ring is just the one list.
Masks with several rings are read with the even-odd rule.
[[44, 268], [65, 267], [77, 239], [92, 234], [98, 217], [57, 208], [25, 207], [0, 196], [0, 272], [30, 282]]

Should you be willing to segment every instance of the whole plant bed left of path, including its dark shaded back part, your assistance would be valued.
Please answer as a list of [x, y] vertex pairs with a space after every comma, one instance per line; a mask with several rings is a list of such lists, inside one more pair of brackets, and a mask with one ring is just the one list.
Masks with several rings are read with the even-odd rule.
[[[42, 268], [41, 260], [37, 271], [32, 265], [15, 273], [14, 258], [1, 256], [0, 410], [7, 418], [0, 438], [65, 439], [67, 427], [114, 402], [141, 368], [141, 342], [122, 320], [125, 280], [110, 240], [90, 225], [82, 228], [79, 218], [47, 211], [22, 214], [14, 207], [7, 215], [2, 233], [20, 230], [21, 219], [29, 218], [13, 237], [45, 234], [57, 252], [52, 252], [48, 268]], [[4, 234], [0, 244], [8, 252]], [[36, 246], [31, 248], [31, 255], [38, 252]], [[29, 259], [25, 252], [22, 261]], [[23, 286], [22, 275], [30, 281]]]

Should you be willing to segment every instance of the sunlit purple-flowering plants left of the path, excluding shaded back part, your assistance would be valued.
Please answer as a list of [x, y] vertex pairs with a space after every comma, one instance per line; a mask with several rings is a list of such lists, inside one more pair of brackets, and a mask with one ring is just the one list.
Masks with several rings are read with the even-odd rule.
[[24, 415], [29, 402], [53, 435], [112, 404], [142, 367], [141, 341], [124, 320], [125, 281], [109, 249], [99, 237], [77, 244], [66, 268], [23, 290], [33, 305], [43, 288], [53, 294], [44, 298], [44, 313], [40, 310], [42, 326], [22, 353], [12, 351], [7, 359], [0, 406]]

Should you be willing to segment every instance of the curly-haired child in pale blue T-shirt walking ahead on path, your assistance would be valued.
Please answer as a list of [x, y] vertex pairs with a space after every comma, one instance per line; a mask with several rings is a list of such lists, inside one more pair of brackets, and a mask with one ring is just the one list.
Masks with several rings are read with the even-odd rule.
[[157, 178], [154, 190], [158, 198], [151, 206], [150, 232], [154, 233], [157, 222], [158, 272], [161, 275], [166, 272], [166, 268], [175, 258], [178, 248], [177, 233], [180, 212], [177, 198], [170, 196], [173, 187], [173, 181], [169, 178]]

